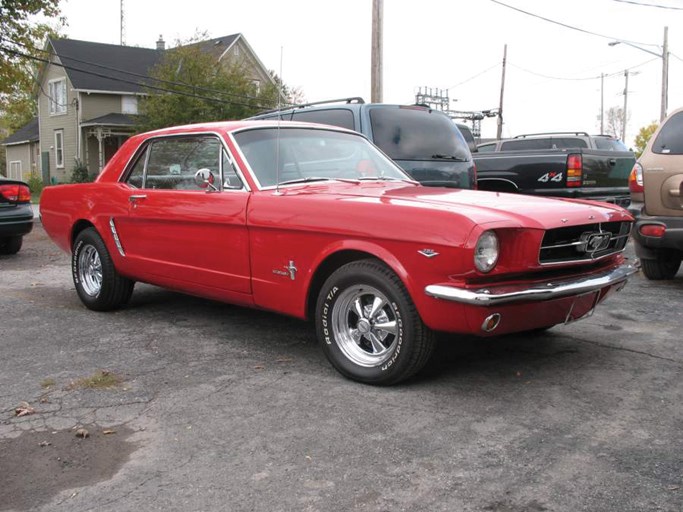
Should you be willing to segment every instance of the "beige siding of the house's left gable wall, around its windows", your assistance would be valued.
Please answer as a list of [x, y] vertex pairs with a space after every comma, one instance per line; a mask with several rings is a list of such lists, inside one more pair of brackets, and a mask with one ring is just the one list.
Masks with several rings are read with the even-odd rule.
[[[58, 59], [56, 59], [58, 60]], [[64, 68], [48, 65], [40, 84], [38, 109], [40, 112], [40, 151], [50, 154], [50, 179], [56, 182], [69, 181], [74, 166], [78, 147], [78, 113], [76, 109], [77, 93], [66, 78], [66, 114], [50, 115], [50, 100], [47, 97], [48, 83], [51, 80], [66, 77]], [[55, 162], [55, 130], [64, 130], [64, 168], [57, 169]]]

